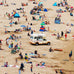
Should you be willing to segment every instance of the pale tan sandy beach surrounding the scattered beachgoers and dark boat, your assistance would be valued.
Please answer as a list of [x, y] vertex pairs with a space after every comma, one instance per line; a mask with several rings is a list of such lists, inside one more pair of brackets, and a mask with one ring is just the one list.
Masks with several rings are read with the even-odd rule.
[[[30, 57], [30, 53], [34, 52], [35, 50], [38, 51], [40, 54], [41, 58], [30, 58], [30, 61], [33, 62], [33, 72], [30, 71], [30, 64], [24, 63], [25, 66], [25, 71], [21, 71], [21, 74], [56, 74], [55, 70], [62, 69], [64, 71], [64, 74], [74, 74], [74, 54], [72, 56], [72, 59], [69, 60], [69, 53], [72, 50], [72, 53], [74, 53], [74, 40], [72, 38], [72, 35], [74, 35], [74, 26], [67, 26], [66, 24], [73, 23], [74, 24], [74, 16], [70, 16], [70, 12], [64, 12], [64, 13], [59, 13], [61, 15], [61, 21], [64, 22], [64, 24], [55, 24], [54, 20], [55, 17], [58, 15], [56, 13], [57, 9], [62, 9], [65, 10], [65, 7], [57, 7], [53, 6], [54, 2], [59, 3], [60, 0], [40, 0], [43, 2], [43, 7], [48, 8], [48, 12], [43, 12], [41, 11], [40, 14], [45, 14], [46, 15], [46, 20], [50, 21], [50, 24], [45, 25], [46, 30], [48, 30], [48, 27], [50, 28], [51, 31], [43, 32], [45, 34], [46, 38], [50, 40], [51, 45], [31, 45], [30, 42], [30, 37], [27, 36], [28, 31], [22, 31], [20, 33], [15, 33], [16, 36], [21, 36], [21, 39], [18, 39], [17, 41], [15, 40], [10, 40], [9, 44], [11, 41], [13, 41], [15, 46], [17, 43], [21, 41], [22, 43], [22, 48], [20, 51], [16, 54], [11, 54], [11, 49], [8, 48], [6, 45], [6, 38], [10, 37], [13, 33], [8, 33], [5, 34], [5, 26], [7, 30], [15, 30], [16, 28], [21, 28], [21, 25], [27, 26], [28, 23], [33, 23], [31, 27], [32, 30], [35, 30], [34, 33], [42, 33], [39, 31], [41, 25], [40, 21], [33, 21], [32, 16], [30, 14], [31, 9], [34, 6], [37, 6], [38, 4], [33, 4], [32, 1], [28, 0], [6, 0], [7, 4], [9, 6], [3, 6], [0, 5], [0, 39], [2, 41], [1, 48], [4, 50], [0, 50], [0, 74], [19, 74], [19, 67], [21, 62], [25, 62], [24, 59], [18, 59], [18, 62], [16, 64], [16, 58], [19, 57], [19, 53], [22, 52], [23, 56], [25, 56], [25, 53], [28, 54], [28, 57]], [[0, 1], [1, 2], [1, 1]], [[28, 3], [28, 6], [21, 6], [21, 3]], [[37, 0], [38, 2], [38, 0]], [[67, 0], [69, 5], [74, 7], [74, 0]], [[16, 3], [16, 5], [11, 5], [11, 3]], [[26, 15], [28, 18], [28, 21], [25, 21], [25, 17], [22, 17], [23, 13], [20, 13], [17, 8], [24, 8], [26, 11]], [[13, 10], [16, 10], [21, 18], [19, 19], [19, 24], [15, 25], [13, 24], [12, 27], [10, 27], [10, 20], [8, 17], [4, 14], [6, 12], [12, 13]], [[73, 12], [74, 14], [74, 12]], [[38, 15], [35, 15], [36, 18], [38, 18]], [[17, 21], [17, 18], [14, 18], [13, 21]], [[67, 29], [71, 28], [71, 33], [67, 34], [67, 40], [58, 40], [57, 36], [52, 36], [52, 34], [61, 34], [61, 31], [64, 32]], [[22, 28], [21, 28], [22, 29]], [[30, 31], [29, 31], [30, 33]], [[54, 52], [49, 52], [49, 48], [52, 47], [53, 49], [63, 49], [63, 51], [54, 51]], [[46, 54], [43, 56], [43, 54]], [[41, 61], [44, 61], [47, 67], [45, 66], [44, 68], [37, 67], [36, 64], [40, 63]], [[4, 65], [4, 62], [8, 62], [9, 65], [18, 65], [18, 67], [1, 67]], [[54, 67], [51, 67], [54, 66]], [[61, 73], [57, 73], [61, 74]]]

